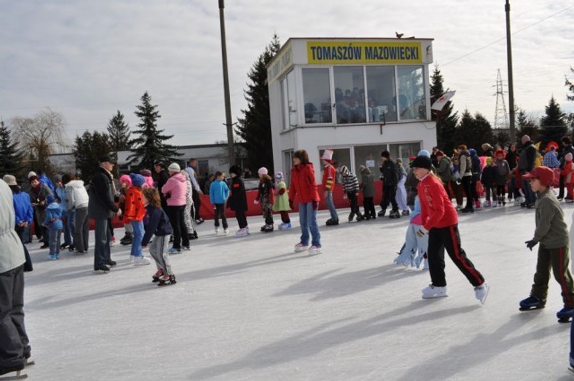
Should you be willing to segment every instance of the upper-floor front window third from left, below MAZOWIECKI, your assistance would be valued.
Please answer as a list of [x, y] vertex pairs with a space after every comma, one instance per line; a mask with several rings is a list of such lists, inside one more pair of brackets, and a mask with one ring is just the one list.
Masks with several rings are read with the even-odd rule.
[[394, 66], [367, 66], [369, 122], [396, 122]]

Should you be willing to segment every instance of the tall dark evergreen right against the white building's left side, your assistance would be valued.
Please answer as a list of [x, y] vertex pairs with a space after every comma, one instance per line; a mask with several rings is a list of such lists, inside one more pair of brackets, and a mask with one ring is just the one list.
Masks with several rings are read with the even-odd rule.
[[267, 64], [277, 54], [281, 45], [277, 34], [247, 74], [250, 82], [244, 91], [247, 110], [241, 110], [243, 118], [235, 133], [245, 141], [247, 157], [245, 165], [249, 168], [266, 166], [273, 173], [273, 149], [271, 142], [271, 115], [269, 111], [269, 91], [267, 90]]

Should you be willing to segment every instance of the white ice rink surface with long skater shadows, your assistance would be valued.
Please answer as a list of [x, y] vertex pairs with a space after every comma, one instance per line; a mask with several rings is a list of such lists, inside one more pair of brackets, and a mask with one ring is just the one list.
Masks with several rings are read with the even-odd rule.
[[[573, 207], [564, 208], [570, 223]], [[323, 224], [327, 212], [319, 214]], [[523, 243], [534, 211], [461, 216], [463, 247], [491, 286], [484, 306], [449, 259], [449, 297], [421, 300], [428, 271], [393, 264], [405, 218], [321, 226], [324, 254], [309, 257], [293, 254], [300, 230], [292, 217], [293, 230], [271, 234], [252, 217], [247, 238], [216, 237], [206, 221], [193, 250], [171, 256], [177, 284], [162, 288], [150, 282], [153, 264], [129, 265], [129, 247], [116, 244], [118, 266], [94, 274], [93, 255], [63, 251], [49, 262], [34, 240], [29, 378], [572, 380], [556, 281], [545, 309], [518, 311], [536, 264]]]

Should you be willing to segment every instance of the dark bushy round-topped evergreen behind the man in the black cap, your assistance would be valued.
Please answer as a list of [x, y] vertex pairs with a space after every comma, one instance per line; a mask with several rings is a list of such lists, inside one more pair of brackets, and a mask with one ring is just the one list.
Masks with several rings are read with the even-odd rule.
[[[113, 157], [115, 154], [110, 154], [111, 151], [110, 137], [106, 133], [86, 131], [81, 137], [76, 136], [72, 153], [76, 161], [77, 172], [82, 180], [91, 181], [99, 167], [98, 158], [108, 154]], [[117, 160], [117, 157], [114, 157], [114, 160]], [[114, 172], [117, 174], [116, 166], [114, 166]]]

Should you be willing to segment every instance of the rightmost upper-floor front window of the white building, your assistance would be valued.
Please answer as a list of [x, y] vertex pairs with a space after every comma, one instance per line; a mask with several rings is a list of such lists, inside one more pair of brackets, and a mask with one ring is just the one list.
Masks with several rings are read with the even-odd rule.
[[398, 108], [399, 118], [426, 119], [424, 69], [422, 66], [399, 66]]

